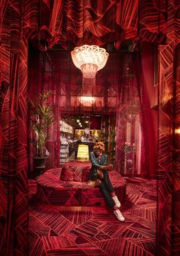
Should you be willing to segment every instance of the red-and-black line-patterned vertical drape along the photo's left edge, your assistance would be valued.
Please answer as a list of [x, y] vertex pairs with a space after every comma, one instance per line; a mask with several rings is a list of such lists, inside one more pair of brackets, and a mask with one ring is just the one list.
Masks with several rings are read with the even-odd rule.
[[27, 41], [21, 2], [2, 1], [1, 255], [27, 254]]

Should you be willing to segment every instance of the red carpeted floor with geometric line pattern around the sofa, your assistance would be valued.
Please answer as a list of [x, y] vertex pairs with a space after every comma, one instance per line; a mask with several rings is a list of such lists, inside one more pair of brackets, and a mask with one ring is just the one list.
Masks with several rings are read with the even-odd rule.
[[110, 209], [47, 206], [29, 182], [30, 256], [152, 256], [156, 254], [156, 180], [126, 178], [125, 222]]

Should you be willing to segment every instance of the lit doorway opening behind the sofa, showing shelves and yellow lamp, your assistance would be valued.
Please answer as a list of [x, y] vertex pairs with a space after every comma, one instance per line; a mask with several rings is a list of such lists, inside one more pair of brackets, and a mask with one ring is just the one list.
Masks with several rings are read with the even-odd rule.
[[60, 165], [68, 160], [89, 160], [97, 141], [105, 145], [108, 162], [115, 160], [116, 114], [63, 113], [60, 125]]

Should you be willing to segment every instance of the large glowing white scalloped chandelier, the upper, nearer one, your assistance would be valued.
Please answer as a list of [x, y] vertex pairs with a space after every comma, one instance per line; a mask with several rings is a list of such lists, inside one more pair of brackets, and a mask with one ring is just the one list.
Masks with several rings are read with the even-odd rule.
[[74, 65], [82, 71], [83, 78], [95, 78], [98, 70], [101, 70], [107, 60], [108, 53], [104, 48], [97, 45], [82, 45], [71, 52]]

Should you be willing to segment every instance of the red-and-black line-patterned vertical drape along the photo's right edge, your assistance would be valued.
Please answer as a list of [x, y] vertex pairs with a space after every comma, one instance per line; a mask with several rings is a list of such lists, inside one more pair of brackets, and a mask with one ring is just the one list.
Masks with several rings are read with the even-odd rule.
[[[179, 6], [169, 1], [167, 44], [159, 46], [159, 168], [158, 168], [158, 255], [179, 255], [179, 20], [173, 11]], [[178, 17], [178, 16], [177, 16]], [[173, 22], [174, 21], [174, 22]], [[176, 60], [176, 61], [175, 61]], [[175, 80], [174, 80], [175, 78]]]

